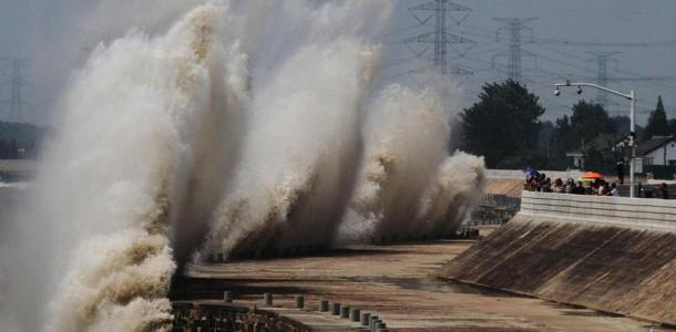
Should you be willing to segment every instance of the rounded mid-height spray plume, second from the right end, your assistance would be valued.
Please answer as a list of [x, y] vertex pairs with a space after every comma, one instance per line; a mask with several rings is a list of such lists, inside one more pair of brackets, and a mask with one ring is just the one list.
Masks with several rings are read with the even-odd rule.
[[361, 131], [363, 162], [341, 237], [412, 235], [418, 197], [445, 155], [447, 118], [431, 90], [380, 92]]

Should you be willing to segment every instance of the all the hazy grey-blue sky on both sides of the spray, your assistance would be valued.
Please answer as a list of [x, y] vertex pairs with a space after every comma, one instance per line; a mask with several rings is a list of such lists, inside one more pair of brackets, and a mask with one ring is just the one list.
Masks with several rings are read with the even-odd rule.
[[[165, 27], [195, 0], [2, 0], [0, 7], [0, 58], [21, 58], [24, 80], [24, 115], [28, 121], [51, 122], [52, 104], [58, 100], [68, 75], [83, 62], [101, 39], [122, 35], [127, 29], [142, 25], [150, 30]], [[424, 0], [399, 0], [390, 33], [382, 37], [387, 45], [383, 77], [397, 81], [414, 79], [418, 69], [428, 65], [433, 48], [420, 58], [413, 51], [424, 46], [404, 44], [411, 38], [432, 31], [433, 24], [421, 25], [408, 8], [426, 3]], [[503, 24], [493, 18], [537, 18], [526, 23], [522, 49], [534, 56], [524, 55], [524, 83], [541, 96], [547, 108], [545, 118], [570, 114], [570, 107], [580, 97], [574, 89], [554, 97], [552, 84], [565, 77], [595, 81], [596, 63], [588, 52], [621, 52], [608, 63], [610, 87], [621, 91], [635, 89], [638, 96], [638, 123], [654, 108], [658, 94], [663, 95], [667, 114], [676, 117], [676, 42], [668, 46], [573, 46], [543, 41], [573, 41], [591, 43], [676, 41], [676, 1], [673, 0], [458, 0], [458, 4], [472, 11], [459, 25], [449, 24], [450, 31], [477, 42], [464, 56], [449, 48], [449, 65], [473, 72], [457, 76], [464, 91], [463, 105], [475, 98], [481, 84], [506, 77], [506, 58], [493, 54], [508, 50], [509, 35], [495, 32]], [[430, 12], [431, 13], [431, 12]], [[420, 18], [426, 13], [419, 12]], [[458, 45], [460, 49], [469, 44]], [[412, 50], [411, 50], [412, 49]], [[11, 70], [6, 63], [0, 70], [0, 82], [10, 80]], [[411, 73], [409, 73], [411, 72]], [[672, 76], [670, 80], [665, 80]], [[614, 77], [631, 79], [616, 81]], [[651, 79], [653, 80], [646, 80]], [[662, 77], [660, 80], [654, 80]], [[0, 101], [10, 98], [10, 85], [0, 85]], [[596, 92], [585, 90], [583, 97], [595, 98]], [[628, 114], [628, 103], [608, 105], [612, 115]], [[7, 120], [9, 104], [0, 104], [0, 120]]]

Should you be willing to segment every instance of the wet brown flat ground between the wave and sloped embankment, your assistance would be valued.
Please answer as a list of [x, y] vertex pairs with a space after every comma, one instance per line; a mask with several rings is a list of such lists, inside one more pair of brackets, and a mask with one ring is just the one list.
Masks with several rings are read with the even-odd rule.
[[[667, 331], [649, 322], [453, 283], [436, 277], [472, 241], [359, 246], [330, 253], [191, 267], [190, 297], [260, 304], [263, 292], [290, 307], [305, 294], [377, 313], [390, 331]], [[186, 294], [187, 294], [186, 293]]]

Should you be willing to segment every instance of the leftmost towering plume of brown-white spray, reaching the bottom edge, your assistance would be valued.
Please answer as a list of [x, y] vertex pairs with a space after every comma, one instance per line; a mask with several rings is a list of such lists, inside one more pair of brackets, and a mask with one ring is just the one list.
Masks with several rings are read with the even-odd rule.
[[227, 164], [205, 151], [236, 151], [205, 123], [236, 121], [246, 98], [246, 77], [233, 79], [246, 61], [236, 42], [219, 44], [225, 13], [207, 4], [165, 37], [131, 32], [100, 46], [74, 77], [33, 201], [57, 230], [59, 250], [44, 255], [63, 264], [52, 271], [64, 277], [54, 280], [48, 330], [170, 329], [170, 229], [199, 216], [185, 206], [208, 205], [202, 193], [223, 190], [226, 173], [215, 188], [194, 175]]

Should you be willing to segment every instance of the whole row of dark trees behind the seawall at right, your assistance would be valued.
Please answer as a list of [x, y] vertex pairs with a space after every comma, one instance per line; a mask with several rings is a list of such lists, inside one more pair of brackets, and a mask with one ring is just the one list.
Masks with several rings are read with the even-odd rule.
[[[629, 133], [628, 116], [611, 117], [602, 105], [585, 100], [554, 122], [541, 121], [544, 113], [540, 97], [521, 83], [486, 83], [479, 101], [460, 114], [460, 146], [484, 156], [489, 168], [504, 169], [566, 169], [572, 166], [569, 152], [581, 153], [585, 168], [598, 170], [628, 157], [627, 149], [617, 148]], [[638, 143], [676, 134], [676, 118], [667, 120], [662, 97], [636, 134]]]

